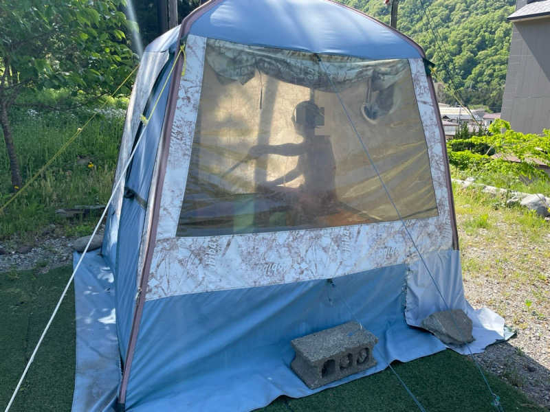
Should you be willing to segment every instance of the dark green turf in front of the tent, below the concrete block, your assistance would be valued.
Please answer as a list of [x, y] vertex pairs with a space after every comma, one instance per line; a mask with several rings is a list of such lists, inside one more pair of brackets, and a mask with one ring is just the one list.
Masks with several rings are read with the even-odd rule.
[[[394, 369], [426, 411], [496, 411], [474, 363], [451, 350], [408, 363], [394, 363]], [[486, 376], [505, 411], [544, 411], [496, 376], [488, 373]], [[259, 409], [264, 412], [418, 410], [388, 369], [307, 398], [281, 397]]]

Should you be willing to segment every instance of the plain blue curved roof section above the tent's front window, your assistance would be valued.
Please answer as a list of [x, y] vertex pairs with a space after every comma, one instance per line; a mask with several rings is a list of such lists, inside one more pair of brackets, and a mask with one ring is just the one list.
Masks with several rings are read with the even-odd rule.
[[211, 0], [201, 9], [189, 31], [197, 36], [373, 60], [423, 57], [406, 36], [330, 0]]

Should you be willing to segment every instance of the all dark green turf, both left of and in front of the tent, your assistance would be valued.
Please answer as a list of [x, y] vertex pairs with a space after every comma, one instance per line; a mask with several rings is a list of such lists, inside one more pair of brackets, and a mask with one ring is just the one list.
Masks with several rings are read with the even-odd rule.
[[[36, 341], [69, 278], [71, 267], [43, 275], [33, 271], [0, 275], [0, 404], [17, 385]], [[50, 332], [29, 371], [12, 411], [69, 411], [74, 385], [74, 292], [69, 290]], [[427, 411], [494, 411], [489, 393], [472, 362], [451, 351], [395, 370]], [[488, 374], [505, 411], [542, 411], [517, 389]], [[298, 400], [279, 398], [263, 411], [415, 411], [417, 407], [397, 378], [386, 369]]]

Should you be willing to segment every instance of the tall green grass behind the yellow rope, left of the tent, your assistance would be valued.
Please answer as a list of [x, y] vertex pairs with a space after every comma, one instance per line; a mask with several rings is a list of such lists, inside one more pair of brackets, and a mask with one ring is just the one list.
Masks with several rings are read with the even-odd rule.
[[[40, 170], [93, 113], [94, 109], [86, 108], [72, 113], [12, 111], [12, 133], [23, 180]], [[65, 225], [66, 220], [56, 216], [56, 209], [107, 202], [118, 158], [123, 113], [111, 106], [83, 129], [67, 150], [5, 209], [0, 216], [0, 239], [14, 233], [29, 238], [52, 222]], [[10, 164], [2, 147], [0, 205], [12, 196], [11, 187]]]

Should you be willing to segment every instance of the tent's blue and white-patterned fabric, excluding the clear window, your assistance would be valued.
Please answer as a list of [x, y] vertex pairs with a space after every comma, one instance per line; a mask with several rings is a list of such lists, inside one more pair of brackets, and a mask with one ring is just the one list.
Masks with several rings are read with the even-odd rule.
[[[414, 93], [408, 104], [415, 106], [421, 123], [415, 127], [426, 140], [423, 156], [429, 161], [437, 215], [307, 230], [177, 236], [201, 115], [203, 73], [209, 69], [208, 38], [342, 55], [344, 60], [401, 59], [399, 64], [410, 68]], [[163, 67], [171, 67], [169, 56], [175, 56], [180, 42], [186, 53], [176, 62], [175, 82], [166, 87], [149, 126], [139, 129], [140, 115], [159, 95], [158, 85], [164, 83], [159, 75]], [[474, 352], [502, 339], [502, 319], [488, 310], [474, 311], [463, 297], [445, 141], [423, 58], [421, 48], [395, 30], [324, 0], [212, 0], [147, 47], [117, 172], [138, 130], [144, 130], [125, 184], [133, 194], [116, 194], [102, 249], [115, 269], [118, 355], [126, 363], [119, 394], [126, 410], [248, 411], [281, 394], [307, 396], [315, 391], [290, 369], [290, 341], [350, 320], [360, 321], [380, 339], [378, 363], [326, 387], [380, 371], [395, 359], [410, 361], [443, 350], [445, 345], [432, 334], [410, 328], [430, 308], [444, 305], [403, 225], [436, 274], [449, 306], [465, 308], [474, 320]], [[341, 109], [348, 114], [353, 108], [345, 101]], [[92, 273], [101, 271], [102, 262], [85, 264]], [[93, 358], [91, 352], [78, 356]]]

